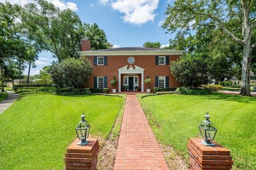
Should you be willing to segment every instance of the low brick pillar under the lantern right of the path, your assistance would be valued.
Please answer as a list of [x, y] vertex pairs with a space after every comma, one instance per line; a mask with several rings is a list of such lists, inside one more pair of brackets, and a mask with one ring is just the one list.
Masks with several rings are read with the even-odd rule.
[[230, 170], [234, 162], [230, 150], [216, 141], [215, 146], [205, 146], [204, 139], [192, 138], [188, 142], [190, 170]]

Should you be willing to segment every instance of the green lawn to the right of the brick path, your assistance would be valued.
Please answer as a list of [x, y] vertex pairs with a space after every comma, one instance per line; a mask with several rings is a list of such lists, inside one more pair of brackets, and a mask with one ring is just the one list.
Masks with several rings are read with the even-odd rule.
[[215, 140], [229, 149], [233, 169], [256, 167], [256, 98], [213, 93], [202, 96], [160, 95], [140, 99], [152, 130], [163, 145], [188, 160], [189, 138], [200, 137], [198, 125], [209, 112], [218, 131]]

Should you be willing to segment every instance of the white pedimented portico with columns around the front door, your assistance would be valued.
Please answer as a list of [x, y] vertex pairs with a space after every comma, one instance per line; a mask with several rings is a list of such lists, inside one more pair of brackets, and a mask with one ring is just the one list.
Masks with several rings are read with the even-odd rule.
[[[135, 68], [134, 68], [135, 67]], [[139, 66], [134, 65], [134, 67], [132, 67], [132, 65], [130, 65], [130, 67], [128, 68], [128, 65], [119, 68], [118, 69], [118, 82], [119, 82], [119, 91], [121, 92], [121, 74], [125, 74], [124, 75], [124, 84], [129, 86], [129, 90], [133, 90], [134, 86], [138, 86], [138, 76], [135, 74], [141, 74], [141, 92], [144, 92], [144, 69], [140, 68]]]

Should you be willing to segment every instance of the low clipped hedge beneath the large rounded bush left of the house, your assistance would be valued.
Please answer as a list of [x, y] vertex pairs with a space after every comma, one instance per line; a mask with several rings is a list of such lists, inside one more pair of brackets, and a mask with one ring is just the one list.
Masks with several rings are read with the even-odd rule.
[[75, 96], [75, 95], [85, 95], [92, 94], [89, 88], [73, 88], [73, 87], [65, 87], [65, 88], [52, 88], [50, 92], [55, 95], [60, 96]]

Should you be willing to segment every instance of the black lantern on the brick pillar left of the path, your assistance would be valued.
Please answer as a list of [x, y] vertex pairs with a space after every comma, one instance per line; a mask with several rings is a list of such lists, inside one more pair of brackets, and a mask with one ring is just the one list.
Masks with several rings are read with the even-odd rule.
[[88, 138], [88, 135], [89, 135], [90, 125], [88, 121], [84, 120], [85, 118], [84, 112], [82, 113], [81, 118], [82, 120], [76, 126], [77, 136], [81, 140], [78, 143], [78, 145], [87, 145], [89, 141], [86, 141], [86, 138]]

